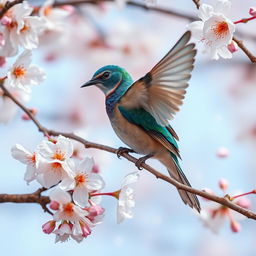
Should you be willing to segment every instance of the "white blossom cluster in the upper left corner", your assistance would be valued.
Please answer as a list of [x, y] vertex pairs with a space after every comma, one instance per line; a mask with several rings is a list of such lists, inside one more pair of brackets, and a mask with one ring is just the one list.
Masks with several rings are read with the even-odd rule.
[[[7, 2], [0, 0], [1, 8]], [[38, 15], [34, 15], [34, 8], [23, 1], [8, 9], [0, 19], [0, 67], [5, 67], [9, 58], [16, 57], [1, 82], [22, 103], [29, 100], [31, 88], [46, 78], [45, 72], [32, 64], [32, 50], [38, 48], [41, 37], [49, 30], [59, 30], [61, 21], [69, 13], [52, 8], [52, 4], [52, 0], [47, 0]], [[16, 108], [0, 89], [0, 122], [11, 120]]]

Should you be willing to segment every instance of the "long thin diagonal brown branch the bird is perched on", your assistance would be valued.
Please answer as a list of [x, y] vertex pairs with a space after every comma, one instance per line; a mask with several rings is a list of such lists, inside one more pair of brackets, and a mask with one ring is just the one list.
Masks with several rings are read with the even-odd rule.
[[[10, 98], [15, 104], [17, 104], [31, 118], [31, 120], [34, 122], [34, 124], [37, 126], [37, 128], [38, 128], [38, 130], [40, 132], [43, 132], [44, 134], [46, 133], [46, 134], [49, 134], [49, 135], [52, 135], [52, 136], [63, 135], [65, 137], [67, 137], [67, 138], [70, 138], [72, 140], [75, 140], [75, 141], [78, 141], [78, 142], [82, 143], [85, 146], [85, 148], [95, 148], [95, 149], [99, 149], [99, 150], [103, 150], [103, 151], [107, 151], [107, 152], [110, 152], [110, 153], [117, 154], [118, 149], [115, 149], [115, 148], [112, 148], [112, 147], [109, 147], [109, 146], [106, 146], [106, 145], [90, 142], [88, 140], [85, 140], [85, 139], [83, 139], [83, 138], [73, 134], [73, 133], [58, 132], [58, 131], [46, 129], [31, 114], [31, 112], [29, 111], [28, 108], [26, 108], [22, 103], [20, 103], [18, 100], [16, 100], [13, 95], [11, 95], [9, 93], [9, 91], [3, 85], [3, 80], [0, 83], [0, 88], [2, 88], [2, 90], [4, 92], [4, 95], [6, 97]], [[136, 163], [136, 161], [138, 160], [137, 158], [129, 155], [128, 153], [123, 153], [122, 156], [124, 158], [126, 158], [128, 161], [132, 162], [132, 163]], [[232, 201], [229, 200], [228, 196], [218, 197], [218, 196], [212, 195], [210, 193], [207, 193], [205, 191], [201, 191], [201, 190], [198, 190], [198, 189], [186, 186], [186, 185], [181, 184], [178, 181], [174, 180], [173, 178], [168, 177], [168, 176], [158, 172], [157, 170], [153, 169], [151, 166], [149, 166], [149, 165], [147, 165], [145, 163], [142, 164], [142, 167], [145, 170], [147, 170], [148, 172], [150, 172], [151, 174], [153, 174], [156, 178], [164, 180], [164, 181], [172, 184], [177, 189], [182, 189], [182, 190], [191, 192], [191, 193], [193, 193], [195, 195], [207, 198], [207, 199], [212, 200], [214, 202], [217, 202], [217, 203], [219, 203], [219, 204], [221, 204], [223, 206], [226, 206], [226, 207], [228, 207], [228, 208], [230, 208], [230, 209], [232, 209], [232, 210], [234, 210], [236, 212], [239, 212], [240, 214], [242, 214], [242, 215], [244, 215], [244, 216], [246, 216], [246, 217], [248, 217], [250, 219], [255, 219], [256, 220], [256, 214], [254, 212], [246, 210], [246, 209], [244, 209], [244, 208], [242, 208], [242, 207], [232, 203]]]

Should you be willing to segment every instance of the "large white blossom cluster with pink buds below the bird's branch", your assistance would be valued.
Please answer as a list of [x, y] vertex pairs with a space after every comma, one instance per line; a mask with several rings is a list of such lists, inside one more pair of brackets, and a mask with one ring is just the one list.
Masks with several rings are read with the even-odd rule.
[[131, 209], [135, 203], [130, 185], [137, 182], [138, 173], [127, 175], [120, 190], [101, 193], [105, 182], [95, 172], [93, 159], [77, 159], [72, 141], [61, 135], [56, 139], [42, 140], [34, 152], [16, 144], [12, 156], [27, 165], [24, 179], [28, 184], [35, 180], [51, 189], [49, 208], [55, 213], [53, 220], [42, 228], [47, 234], [56, 234], [56, 242], [69, 238], [81, 242], [90, 235], [92, 228], [103, 218], [104, 208], [100, 202], [104, 195], [118, 199], [118, 223], [132, 218]]

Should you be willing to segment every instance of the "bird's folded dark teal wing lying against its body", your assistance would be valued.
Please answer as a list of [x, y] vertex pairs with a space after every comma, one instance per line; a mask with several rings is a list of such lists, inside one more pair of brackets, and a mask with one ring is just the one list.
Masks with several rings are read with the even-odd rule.
[[141, 127], [152, 138], [161, 143], [166, 149], [174, 155], [180, 157], [177, 142], [174, 136], [169, 132], [167, 127], [159, 125], [154, 117], [143, 108], [126, 109], [118, 107], [119, 111], [129, 122]]

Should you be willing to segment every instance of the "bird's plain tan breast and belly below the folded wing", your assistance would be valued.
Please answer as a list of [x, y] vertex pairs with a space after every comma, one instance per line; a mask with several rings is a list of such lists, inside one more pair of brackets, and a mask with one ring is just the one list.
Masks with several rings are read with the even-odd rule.
[[123, 117], [118, 104], [109, 115], [111, 125], [117, 136], [130, 148], [139, 154], [151, 154], [161, 150], [162, 146], [150, 137], [142, 128], [130, 123]]

